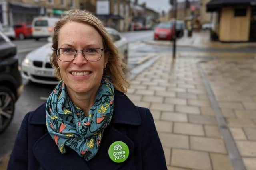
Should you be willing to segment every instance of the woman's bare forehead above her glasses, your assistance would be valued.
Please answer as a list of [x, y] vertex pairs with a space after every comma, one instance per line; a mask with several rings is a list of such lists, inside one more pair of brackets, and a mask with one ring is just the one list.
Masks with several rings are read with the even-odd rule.
[[94, 27], [84, 23], [68, 22], [62, 26], [58, 34], [58, 47], [63, 44], [103, 47], [103, 40]]

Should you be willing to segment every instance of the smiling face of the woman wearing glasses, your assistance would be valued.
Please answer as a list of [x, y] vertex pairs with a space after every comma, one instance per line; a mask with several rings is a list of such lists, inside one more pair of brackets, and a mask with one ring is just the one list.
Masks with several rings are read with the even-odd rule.
[[[90, 47], [104, 49], [102, 37], [98, 31], [94, 27], [83, 23], [66, 23], [60, 29], [58, 36], [58, 48], [83, 50]], [[68, 92], [96, 94], [102, 79], [103, 69], [107, 63], [105, 57], [103, 51], [100, 60], [87, 61], [82, 52], [77, 52], [72, 61], [58, 60], [60, 75]], [[78, 74], [81, 72], [85, 75]]]

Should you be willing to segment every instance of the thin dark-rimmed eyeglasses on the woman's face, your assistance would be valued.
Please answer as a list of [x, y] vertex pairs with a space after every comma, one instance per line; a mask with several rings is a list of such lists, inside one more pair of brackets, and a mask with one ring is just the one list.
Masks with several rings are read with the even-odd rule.
[[54, 49], [56, 51], [57, 57], [60, 61], [72, 61], [76, 57], [78, 51], [81, 51], [84, 58], [87, 61], [98, 61], [102, 56], [102, 51], [105, 49], [100, 48], [88, 48], [84, 50], [75, 50], [71, 48], [58, 48]]

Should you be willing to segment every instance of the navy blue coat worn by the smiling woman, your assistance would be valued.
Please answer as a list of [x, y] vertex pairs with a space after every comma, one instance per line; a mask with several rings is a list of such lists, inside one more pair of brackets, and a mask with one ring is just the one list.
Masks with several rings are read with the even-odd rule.
[[[61, 154], [46, 129], [45, 104], [22, 121], [10, 156], [8, 170], [167, 170], [164, 152], [149, 109], [136, 107], [115, 91], [114, 115], [103, 133], [100, 149], [86, 162], [66, 147]], [[128, 145], [128, 159], [115, 163], [108, 148], [115, 141]]]

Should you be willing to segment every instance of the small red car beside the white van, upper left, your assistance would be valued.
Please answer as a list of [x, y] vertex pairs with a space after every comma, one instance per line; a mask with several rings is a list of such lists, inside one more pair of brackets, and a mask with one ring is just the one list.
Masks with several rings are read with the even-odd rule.
[[17, 23], [13, 28], [16, 38], [25, 39], [32, 36], [31, 23]]

